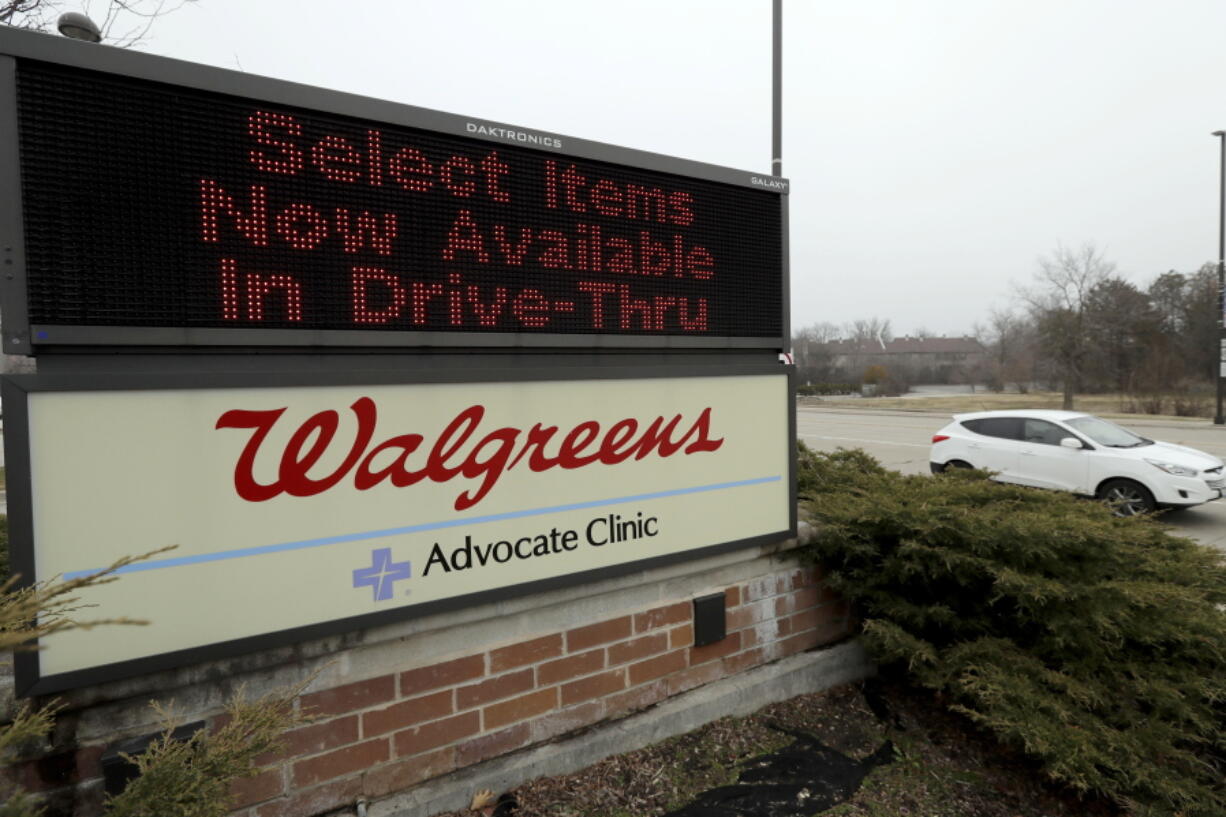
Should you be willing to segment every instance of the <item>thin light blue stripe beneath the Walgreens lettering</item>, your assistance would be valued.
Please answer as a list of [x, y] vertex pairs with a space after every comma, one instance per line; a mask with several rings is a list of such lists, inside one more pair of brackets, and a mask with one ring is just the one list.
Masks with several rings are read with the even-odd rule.
[[[737, 482], [715, 482], [700, 485], [691, 488], [674, 488], [672, 491], [657, 491], [655, 493], [638, 493], [630, 497], [617, 497], [614, 499], [593, 499], [591, 502], [576, 502], [569, 505], [550, 505], [548, 508], [530, 508], [528, 510], [511, 510], [505, 514], [490, 514], [488, 516], [468, 516], [465, 519], [449, 519], [446, 521], [423, 523], [421, 525], [406, 525], [403, 527], [386, 527], [384, 530], [368, 530], [357, 534], [342, 534], [340, 536], [322, 536], [320, 539], [304, 539], [298, 542], [281, 542], [278, 545], [261, 545], [259, 547], [239, 547], [232, 551], [218, 551], [216, 553], [201, 553], [199, 556], [179, 556], [168, 559], [153, 559], [139, 562], [115, 570], [119, 573], [141, 573], [143, 570], [159, 570], [169, 567], [183, 567], [185, 564], [204, 564], [205, 562], [222, 562], [224, 559], [238, 559], [248, 556], [264, 556], [265, 553], [281, 553], [284, 551], [300, 551], [308, 547], [322, 547], [325, 545], [340, 545], [342, 542], [360, 542], [367, 539], [381, 539], [384, 536], [400, 536], [402, 534], [419, 534], [427, 530], [443, 530], [446, 527], [459, 527], [461, 525], [479, 525], [489, 521], [501, 521], [504, 519], [522, 519], [525, 516], [543, 516], [546, 514], [562, 513], [564, 510], [582, 510], [585, 508], [600, 508], [602, 505], [624, 505], [629, 502], [644, 502], [647, 499], [663, 499], [664, 497], [679, 497], [687, 493], [704, 493], [706, 491], [727, 491], [728, 488], [743, 488], [752, 485], [764, 485], [766, 482], [779, 482], [782, 476], [756, 477], [754, 480], [739, 480]], [[92, 570], [74, 570], [65, 573], [65, 579], [80, 579], [93, 575], [103, 568]]]

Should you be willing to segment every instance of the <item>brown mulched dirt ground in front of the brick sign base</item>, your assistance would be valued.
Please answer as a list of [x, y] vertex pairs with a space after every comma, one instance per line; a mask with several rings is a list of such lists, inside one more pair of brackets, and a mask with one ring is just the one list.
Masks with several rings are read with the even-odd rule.
[[[851, 759], [886, 746], [850, 799], [818, 812], [837, 817], [1118, 817], [1111, 804], [1079, 800], [1045, 783], [1008, 748], [945, 710], [931, 694], [869, 681], [725, 718], [687, 735], [607, 758], [574, 774], [539, 778], [510, 792], [516, 817], [639, 817], [679, 810], [734, 783], [755, 758], [807, 735]], [[878, 752], [878, 756], [883, 756]], [[498, 792], [501, 794], [501, 792]], [[815, 799], [814, 805], [818, 805]], [[472, 817], [473, 811], [444, 817]], [[688, 812], [689, 813], [689, 812]], [[693, 812], [699, 813], [699, 812]], [[774, 812], [700, 812], [774, 813]], [[787, 810], [787, 813], [802, 813]], [[498, 815], [501, 817], [501, 813]]]

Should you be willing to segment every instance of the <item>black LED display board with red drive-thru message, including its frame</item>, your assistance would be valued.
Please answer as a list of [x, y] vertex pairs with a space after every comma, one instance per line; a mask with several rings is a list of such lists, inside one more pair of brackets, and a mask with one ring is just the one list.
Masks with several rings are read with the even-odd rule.
[[0, 34], [10, 352], [785, 346], [782, 179]]

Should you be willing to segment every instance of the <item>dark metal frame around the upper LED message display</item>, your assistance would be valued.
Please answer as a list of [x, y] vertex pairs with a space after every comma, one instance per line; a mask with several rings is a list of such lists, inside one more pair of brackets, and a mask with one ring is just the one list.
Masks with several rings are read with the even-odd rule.
[[[37, 60], [74, 69], [174, 85], [248, 98], [261, 103], [318, 110], [354, 119], [484, 140], [492, 145], [528, 146], [560, 158], [592, 159], [630, 168], [755, 188], [775, 194], [781, 216], [779, 336], [533, 334], [398, 330], [316, 330], [189, 326], [40, 326], [28, 310], [22, 164], [18, 151], [17, 65]], [[526, 145], [525, 145], [526, 144]], [[390, 103], [293, 82], [201, 66], [124, 49], [94, 45], [42, 33], [0, 29], [0, 307], [4, 308], [4, 351], [15, 355], [81, 353], [89, 350], [141, 352], [153, 348], [205, 351], [337, 352], [394, 348], [503, 350], [742, 350], [783, 351], [790, 345], [788, 318], [788, 182], [689, 159], [662, 156], [528, 128], [505, 125], [412, 105]]]

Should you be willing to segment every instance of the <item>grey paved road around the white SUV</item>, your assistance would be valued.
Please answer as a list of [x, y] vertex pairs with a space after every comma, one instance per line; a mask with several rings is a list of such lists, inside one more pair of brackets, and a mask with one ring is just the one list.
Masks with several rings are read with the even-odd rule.
[[[796, 432], [813, 449], [862, 448], [881, 465], [904, 474], [928, 474], [932, 435], [949, 422], [948, 413], [853, 411], [798, 406]], [[1139, 434], [1199, 448], [1226, 459], [1226, 427], [1208, 421], [1129, 421]], [[1226, 499], [1167, 514], [1166, 521], [1205, 545], [1226, 552]]]

